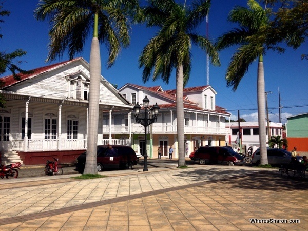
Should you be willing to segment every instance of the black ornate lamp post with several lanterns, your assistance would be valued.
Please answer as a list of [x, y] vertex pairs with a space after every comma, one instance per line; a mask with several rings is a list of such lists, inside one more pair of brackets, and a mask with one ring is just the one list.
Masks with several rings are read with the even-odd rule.
[[[145, 97], [143, 100], [143, 109], [144, 109], [144, 118], [139, 118], [141, 106], [137, 102], [137, 104], [133, 107], [134, 118], [137, 123], [144, 126], [144, 149], [143, 149], [143, 157], [144, 157], [144, 166], [143, 171], [148, 171], [147, 168], [147, 153], [146, 153], [146, 128], [152, 123], [157, 121], [157, 116], [159, 113], [159, 106], [157, 103], [153, 106], [149, 107], [149, 99]], [[150, 116], [148, 117], [148, 113], [150, 112]]]

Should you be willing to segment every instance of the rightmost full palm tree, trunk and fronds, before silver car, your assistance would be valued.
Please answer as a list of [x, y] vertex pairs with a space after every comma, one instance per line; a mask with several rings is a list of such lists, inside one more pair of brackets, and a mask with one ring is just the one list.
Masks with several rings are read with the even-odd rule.
[[265, 54], [264, 36], [269, 24], [269, 11], [263, 10], [255, 0], [248, 0], [248, 7], [237, 6], [230, 11], [228, 20], [238, 23], [235, 28], [218, 38], [216, 46], [219, 50], [233, 45], [240, 45], [233, 54], [231, 62], [227, 68], [227, 86], [233, 87], [236, 91], [248, 67], [256, 60], [258, 63], [257, 92], [258, 92], [258, 121], [261, 164], [268, 164], [266, 151], [266, 125], [265, 125], [265, 83], [263, 54]]

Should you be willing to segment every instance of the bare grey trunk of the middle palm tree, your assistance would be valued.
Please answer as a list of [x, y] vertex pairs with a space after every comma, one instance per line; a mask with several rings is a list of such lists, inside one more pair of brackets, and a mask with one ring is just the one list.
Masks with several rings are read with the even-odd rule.
[[184, 103], [183, 103], [183, 87], [184, 87], [184, 72], [183, 65], [177, 68], [177, 130], [178, 130], [178, 167], [186, 166], [185, 148], [184, 148]]

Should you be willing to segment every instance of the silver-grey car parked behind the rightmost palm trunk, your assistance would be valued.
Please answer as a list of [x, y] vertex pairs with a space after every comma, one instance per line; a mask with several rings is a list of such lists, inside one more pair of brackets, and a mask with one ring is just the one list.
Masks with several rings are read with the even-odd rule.
[[[267, 148], [267, 160], [270, 165], [282, 165], [291, 162], [291, 152], [285, 149], [279, 148]], [[298, 161], [301, 161], [302, 157], [297, 157]], [[252, 163], [260, 165], [260, 149], [257, 149], [252, 156]]]

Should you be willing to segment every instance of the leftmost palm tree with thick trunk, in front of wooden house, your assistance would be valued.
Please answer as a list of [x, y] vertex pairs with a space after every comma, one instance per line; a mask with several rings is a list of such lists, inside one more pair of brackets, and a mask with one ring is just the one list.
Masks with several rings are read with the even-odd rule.
[[50, 44], [47, 61], [81, 53], [91, 29], [90, 95], [87, 159], [84, 173], [96, 174], [99, 93], [101, 81], [100, 43], [108, 47], [108, 68], [117, 57], [121, 45], [129, 45], [129, 21], [138, 9], [138, 0], [40, 0], [34, 11], [37, 20], [50, 21]]

